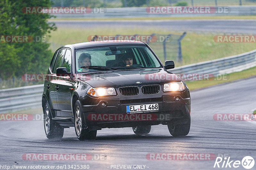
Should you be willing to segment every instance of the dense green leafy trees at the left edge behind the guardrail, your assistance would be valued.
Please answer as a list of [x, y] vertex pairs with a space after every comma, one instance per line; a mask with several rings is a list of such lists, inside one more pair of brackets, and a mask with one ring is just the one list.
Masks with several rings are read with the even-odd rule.
[[[30, 36], [44, 37], [47, 33], [56, 30], [53, 23], [47, 19], [49, 14], [27, 14], [23, 7], [50, 7], [49, 0], [2, 0], [0, 2], [0, 34], [3, 36]], [[1, 42], [0, 63], [1, 78], [12, 75], [21, 76], [28, 73], [45, 73], [52, 58], [52, 51], [47, 42]]]

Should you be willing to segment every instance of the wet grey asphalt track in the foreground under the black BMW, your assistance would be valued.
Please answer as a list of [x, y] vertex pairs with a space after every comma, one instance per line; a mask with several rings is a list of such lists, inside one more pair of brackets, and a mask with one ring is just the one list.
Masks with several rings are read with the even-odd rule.
[[[152, 126], [147, 136], [132, 128], [103, 129], [94, 141], [79, 141], [74, 128], [61, 140], [45, 137], [43, 121], [0, 122], [0, 164], [90, 165], [108, 170], [112, 165], [146, 165], [148, 170], [244, 169], [213, 168], [214, 160], [147, 160], [147, 153], [228, 154], [230, 160], [252, 156], [256, 160], [255, 121], [215, 121], [216, 113], [252, 113], [256, 109], [256, 78], [191, 92], [191, 129], [186, 137], [172, 137], [166, 125]], [[106, 154], [106, 160], [24, 161], [24, 153]], [[255, 168], [256, 165], [252, 169]], [[112, 168], [113, 169], [113, 168]], [[132, 168], [133, 169], [133, 168]]]

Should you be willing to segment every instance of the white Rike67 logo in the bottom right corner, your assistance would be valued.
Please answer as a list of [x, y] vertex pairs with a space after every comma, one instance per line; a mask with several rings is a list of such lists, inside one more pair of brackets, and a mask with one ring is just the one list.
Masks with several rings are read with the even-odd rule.
[[242, 161], [240, 160], [230, 160], [230, 157], [217, 157], [214, 163], [214, 168], [238, 168], [243, 166], [245, 169], [251, 169], [254, 166], [254, 159], [251, 156], [245, 156]]

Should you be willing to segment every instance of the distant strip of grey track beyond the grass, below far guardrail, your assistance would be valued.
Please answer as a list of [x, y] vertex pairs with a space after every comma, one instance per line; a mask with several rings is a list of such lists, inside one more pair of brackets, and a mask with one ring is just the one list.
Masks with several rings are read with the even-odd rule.
[[147, 28], [175, 31], [225, 32], [255, 34], [255, 19], [191, 19], [191, 20], [54, 20], [57, 27], [72, 28]]

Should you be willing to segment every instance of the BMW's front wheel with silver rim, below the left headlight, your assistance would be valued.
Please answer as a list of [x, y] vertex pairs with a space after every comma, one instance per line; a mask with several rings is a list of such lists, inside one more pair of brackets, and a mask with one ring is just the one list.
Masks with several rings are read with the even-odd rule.
[[85, 117], [81, 112], [82, 107], [79, 100], [76, 101], [74, 106], [74, 124], [76, 137], [79, 140], [94, 140], [97, 135], [97, 131], [90, 131], [86, 126]]

